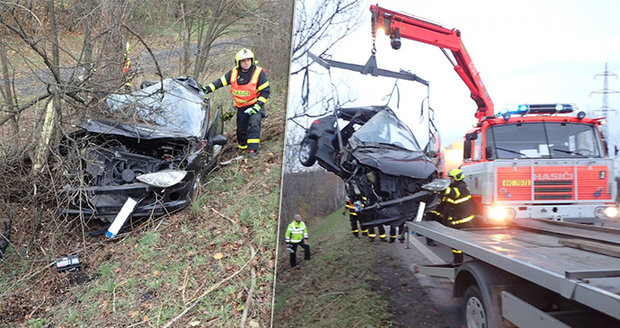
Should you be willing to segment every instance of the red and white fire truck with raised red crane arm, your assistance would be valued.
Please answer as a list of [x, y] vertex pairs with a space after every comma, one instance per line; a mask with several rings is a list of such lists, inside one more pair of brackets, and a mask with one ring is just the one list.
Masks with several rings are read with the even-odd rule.
[[[471, 91], [478, 124], [464, 138], [462, 169], [485, 221], [543, 218], [597, 223], [617, 219], [613, 160], [599, 130], [571, 104], [523, 104], [495, 113], [461, 32], [372, 5], [373, 37], [434, 45]], [[575, 114], [576, 113], [576, 114]]]

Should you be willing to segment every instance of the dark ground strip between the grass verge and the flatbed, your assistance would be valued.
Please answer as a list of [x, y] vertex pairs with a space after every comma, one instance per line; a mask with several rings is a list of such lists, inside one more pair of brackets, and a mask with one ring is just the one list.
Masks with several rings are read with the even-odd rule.
[[407, 249], [406, 243], [398, 241], [374, 244], [383, 259], [377, 267], [383, 282], [380, 289], [390, 301], [396, 327], [464, 327], [460, 300], [451, 297], [451, 282], [414, 273], [416, 263], [427, 264], [415, 248]]

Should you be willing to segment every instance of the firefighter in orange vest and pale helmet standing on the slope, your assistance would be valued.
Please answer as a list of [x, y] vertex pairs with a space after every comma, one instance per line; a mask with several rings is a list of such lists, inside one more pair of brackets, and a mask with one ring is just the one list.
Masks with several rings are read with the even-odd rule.
[[[235, 56], [235, 67], [203, 89], [205, 94], [209, 94], [227, 85], [230, 85], [237, 109], [237, 147], [243, 151], [247, 149], [248, 156], [256, 157], [270, 88], [267, 73], [256, 66], [254, 53], [250, 49], [239, 50]], [[234, 113], [228, 113], [224, 117], [232, 118], [232, 115]]]

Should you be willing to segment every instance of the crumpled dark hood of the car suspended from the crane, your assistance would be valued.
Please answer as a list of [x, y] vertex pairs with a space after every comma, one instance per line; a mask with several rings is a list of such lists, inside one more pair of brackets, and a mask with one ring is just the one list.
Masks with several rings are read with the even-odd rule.
[[352, 155], [360, 164], [394, 176], [426, 179], [436, 170], [433, 163], [420, 152], [358, 147]]

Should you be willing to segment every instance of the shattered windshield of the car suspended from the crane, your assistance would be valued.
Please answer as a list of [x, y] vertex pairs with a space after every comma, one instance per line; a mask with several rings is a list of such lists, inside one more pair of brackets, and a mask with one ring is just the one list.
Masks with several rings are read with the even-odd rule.
[[373, 116], [351, 136], [351, 141], [364, 145], [393, 145], [411, 151], [421, 151], [411, 130], [388, 110]]

